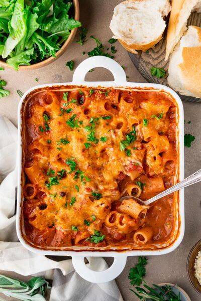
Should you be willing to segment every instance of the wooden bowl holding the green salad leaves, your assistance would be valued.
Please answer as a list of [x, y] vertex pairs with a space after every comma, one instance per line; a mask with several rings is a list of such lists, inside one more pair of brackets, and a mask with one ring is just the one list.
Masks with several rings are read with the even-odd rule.
[[[74, 11], [75, 11], [74, 19], [76, 21], [79, 21], [79, 0], [73, 0], [73, 5], [74, 5]], [[55, 54], [56, 57], [51, 56], [48, 59], [46, 59], [44, 61], [41, 61], [39, 63], [33, 64], [33, 65], [20, 66], [19, 70], [33, 70], [33, 69], [38, 69], [38, 68], [44, 67], [44, 66], [52, 63], [57, 58], [59, 58], [65, 52], [65, 50], [68, 48], [68, 46], [72, 43], [72, 41], [73, 41], [73, 39], [74, 39], [74, 37], [76, 35], [76, 32], [77, 32], [77, 27], [71, 30], [71, 33], [70, 33], [68, 39], [61, 46], [61, 48], [56, 52], [56, 54]], [[13, 69], [5, 61], [1, 61], [0, 60], [0, 65], [3, 66], [3, 67], [5, 67], [5, 68], [11, 68], [11, 69]]]

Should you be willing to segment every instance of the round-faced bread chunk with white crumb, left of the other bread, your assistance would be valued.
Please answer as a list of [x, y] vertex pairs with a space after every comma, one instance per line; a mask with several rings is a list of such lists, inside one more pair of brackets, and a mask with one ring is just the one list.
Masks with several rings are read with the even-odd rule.
[[114, 10], [113, 38], [130, 52], [146, 51], [161, 40], [170, 10], [169, 0], [126, 0]]

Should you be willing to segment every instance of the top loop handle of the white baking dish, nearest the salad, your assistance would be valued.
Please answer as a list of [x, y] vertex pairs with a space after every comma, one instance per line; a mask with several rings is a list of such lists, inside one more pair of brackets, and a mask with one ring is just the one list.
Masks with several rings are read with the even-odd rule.
[[94, 56], [81, 62], [74, 71], [72, 84], [84, 85], [87, 83], [84, 80], [85, 75], [95, 67], [103, 67], [112, 72], [115, 80], [111, 81], [111, 84], [119, 84], [120, 86], [123, 86], [125, 83], [128, 84], [124, 69], [116, 61], [105, 56]]

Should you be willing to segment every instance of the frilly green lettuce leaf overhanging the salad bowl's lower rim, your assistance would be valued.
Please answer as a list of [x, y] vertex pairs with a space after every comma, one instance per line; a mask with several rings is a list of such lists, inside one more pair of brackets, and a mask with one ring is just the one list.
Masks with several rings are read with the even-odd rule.
[[34, 54], [34, 48], [28, 49], [24, 52], [21, 52], [19, 55], [14, 56], [7, 60], [7, 64], [13, 67], [15, 70], [19, 69], [20, 65], [30, 65], [32, 60], [32, 55]]

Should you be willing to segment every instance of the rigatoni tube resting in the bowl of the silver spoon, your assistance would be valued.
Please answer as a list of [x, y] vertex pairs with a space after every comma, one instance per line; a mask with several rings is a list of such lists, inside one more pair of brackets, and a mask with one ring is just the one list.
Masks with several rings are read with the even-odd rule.
[[141, 206], [136, 200], [132, 199], [123, 200], [119, 206], [120, 212], [130, 215], [135, 220], [138, 220], [142, 214], [145, 216], [148, 209], [149, 206]]

